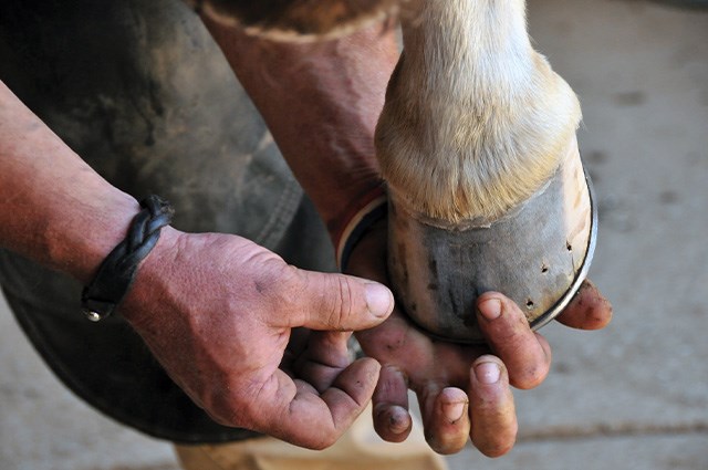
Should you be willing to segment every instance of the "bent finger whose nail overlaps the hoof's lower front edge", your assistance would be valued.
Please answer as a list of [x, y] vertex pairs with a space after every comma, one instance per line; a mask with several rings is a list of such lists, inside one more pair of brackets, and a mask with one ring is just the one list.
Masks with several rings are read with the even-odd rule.
[[540, 385], [551, 366], [551, 348], [531, 331], [521, 309], [498, 292], [480, 295], [477, 309], [479, 327], [506, 364], [511, 385], [523, 389]]

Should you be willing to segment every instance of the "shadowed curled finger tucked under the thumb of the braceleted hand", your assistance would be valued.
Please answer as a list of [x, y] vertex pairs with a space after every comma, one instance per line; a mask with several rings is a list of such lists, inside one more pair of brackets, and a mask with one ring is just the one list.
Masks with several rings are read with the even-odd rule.
[[346, 346], [350, 336], [345, 332], [310, 332], [306, 349], [294, 362], [296, 376], [317, 391], [330, 388], [351, 363]]

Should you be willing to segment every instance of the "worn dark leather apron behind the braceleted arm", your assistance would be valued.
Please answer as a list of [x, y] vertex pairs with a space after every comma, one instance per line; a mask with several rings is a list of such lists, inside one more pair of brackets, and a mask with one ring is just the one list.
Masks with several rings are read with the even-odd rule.
[[[0, 2], [0, 79], [113, 185], [169, 200], [177, 229], [241, 234], [334, 270], [312, 205], [179, 0]], [[195, 406], [121, 316], [87, 322], [75, 280], [0, 250], [0, 283], [50, 367], [101, 411], [180, 442], [253, 436]]]

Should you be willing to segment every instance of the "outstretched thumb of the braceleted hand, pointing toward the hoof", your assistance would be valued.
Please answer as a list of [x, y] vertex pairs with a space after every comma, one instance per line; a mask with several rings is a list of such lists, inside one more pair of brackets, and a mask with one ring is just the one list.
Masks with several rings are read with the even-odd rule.
[[382, 323], [394, 309], [392, 292], [378, 282], [345, 274], [300, 270], [289, 326], [357, 331]]

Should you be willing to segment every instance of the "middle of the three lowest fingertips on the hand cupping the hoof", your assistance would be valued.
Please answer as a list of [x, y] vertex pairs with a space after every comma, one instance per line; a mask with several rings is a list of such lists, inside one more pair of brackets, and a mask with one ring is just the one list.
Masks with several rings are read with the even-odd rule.
[[469, 439], [469, 399], [459, 388], [433, 389], [419, 396], [425, 439], [442, 455], [462, 450]]

